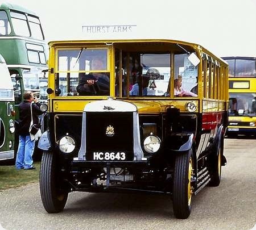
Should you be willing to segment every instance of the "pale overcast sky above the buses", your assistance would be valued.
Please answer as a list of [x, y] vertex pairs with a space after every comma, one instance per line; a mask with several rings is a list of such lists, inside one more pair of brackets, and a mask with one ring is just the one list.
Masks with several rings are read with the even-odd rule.
[[[256, 0], [8, 2], [34, 11], [47, 41], [166, 38], [198, 43], [218, 56], [256, 56]], [[127, 32], [113, 27], [108, 32], [82, 31], [82, 26], [111, 25], [133, 27]]]

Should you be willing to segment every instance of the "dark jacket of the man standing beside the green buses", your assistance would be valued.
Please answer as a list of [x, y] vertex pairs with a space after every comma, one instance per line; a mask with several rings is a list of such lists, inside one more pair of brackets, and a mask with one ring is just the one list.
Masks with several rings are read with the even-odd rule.
[[[32, 114], [33, 114], [33, 123], [38, 124], [38, 115], [43, 114], [39, 106], [35, 103], [32, 103]], [[19, 135], [30, 135], [30, 122], [31, 122], [31, 110], [30, 102], [23, 101], [19, 104], [19, 126], [18, 133]]]

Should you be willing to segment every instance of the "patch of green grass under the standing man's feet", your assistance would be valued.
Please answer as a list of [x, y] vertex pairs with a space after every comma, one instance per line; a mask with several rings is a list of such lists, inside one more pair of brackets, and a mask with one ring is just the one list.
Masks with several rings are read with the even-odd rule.
[[0, 191], [39, 181], [40, 163], [34, 162], [35, 170], [16, 169], [15, 166], [0, 166]]

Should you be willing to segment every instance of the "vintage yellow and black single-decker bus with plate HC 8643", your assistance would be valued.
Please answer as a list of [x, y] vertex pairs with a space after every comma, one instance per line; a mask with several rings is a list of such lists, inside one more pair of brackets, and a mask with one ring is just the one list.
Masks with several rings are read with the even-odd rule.
[[[174, 215], [218, 186], [228, 64], [176, 40], [49, 43], [40, 193], [60, 212], [71, 191], [167, 194]], [[171, 204], [170, 204], [171, 205]]]

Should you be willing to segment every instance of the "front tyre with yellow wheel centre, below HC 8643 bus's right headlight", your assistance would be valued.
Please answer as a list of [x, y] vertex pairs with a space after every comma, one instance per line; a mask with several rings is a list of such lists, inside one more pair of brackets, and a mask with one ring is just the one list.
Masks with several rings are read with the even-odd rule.
[[178, 219], [186, 219], [191, 213], [193, 173], [192, 150], [177, 154], [174, 169], [173, 206]]

